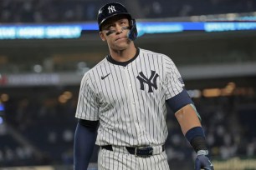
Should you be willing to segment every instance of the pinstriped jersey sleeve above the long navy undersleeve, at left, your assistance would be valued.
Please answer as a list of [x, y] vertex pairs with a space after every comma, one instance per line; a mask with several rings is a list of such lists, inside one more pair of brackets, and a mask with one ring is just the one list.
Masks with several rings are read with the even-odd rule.
[[85, 73], [80, 84], [75, 117], [90, 121], [99, 120], [99, 102], [94, 89], [90, 74]]

